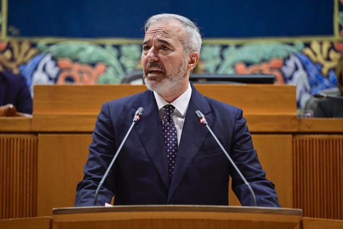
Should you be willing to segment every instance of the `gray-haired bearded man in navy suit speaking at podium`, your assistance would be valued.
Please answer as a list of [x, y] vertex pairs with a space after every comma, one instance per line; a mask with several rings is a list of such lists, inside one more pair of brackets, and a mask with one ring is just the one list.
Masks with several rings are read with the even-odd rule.
[[97, 185], [133, 114], [143, 107], [100, 189], [98, 205], [109, 203], [113, 195], [115, 205], [228, 205], [231, 175], [242, 205], [252, 206], [248, 188], [195, 116], [200, 110], [255, 191], [257, 206], [279, 207], [242, 110], [202, 96], [189, 82], [201, 48], [197, 26], [183, 16], [159, 14], [147, 20], [145, 32], [141, 59], [149, 90], [103, 104], [75, 206], [93, 205]]

